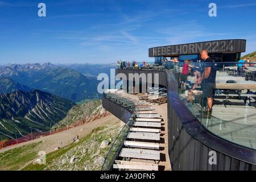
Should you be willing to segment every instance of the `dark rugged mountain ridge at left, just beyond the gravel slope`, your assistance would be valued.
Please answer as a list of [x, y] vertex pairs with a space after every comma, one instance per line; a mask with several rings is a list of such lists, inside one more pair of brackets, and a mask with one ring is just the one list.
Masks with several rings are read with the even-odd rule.
[[47, 131], [61, 121], [75, 103], [40, 90], [0, 94], [0, 134], [22, 137]]

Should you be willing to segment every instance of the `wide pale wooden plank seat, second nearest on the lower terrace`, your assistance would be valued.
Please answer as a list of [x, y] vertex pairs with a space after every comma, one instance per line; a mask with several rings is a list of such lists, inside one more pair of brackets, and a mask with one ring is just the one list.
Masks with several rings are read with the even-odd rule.
[[123, 158], [160, 160], [159, 151], [137, 148], [122, 148], [119, 156]]

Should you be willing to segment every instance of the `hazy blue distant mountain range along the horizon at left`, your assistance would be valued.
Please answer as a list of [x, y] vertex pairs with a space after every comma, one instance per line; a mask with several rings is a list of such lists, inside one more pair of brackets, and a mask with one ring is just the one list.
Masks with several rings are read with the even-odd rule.
[[73, 69], [51, 63], [9, 64], [0, 68], [0, 78], [11, 78], [20, 85], [43, 90], [73, 102], [99, 97], [98, 80], [95, 77], [84, 76]]

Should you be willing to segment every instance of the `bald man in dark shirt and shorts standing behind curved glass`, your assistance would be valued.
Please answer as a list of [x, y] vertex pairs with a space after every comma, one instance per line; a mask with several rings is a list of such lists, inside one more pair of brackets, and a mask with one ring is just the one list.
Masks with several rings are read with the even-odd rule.
[[[201, 78], [197, 81], [197, 84], [201, 84], [203, 89], [203, 102], [204, 98], [207, 98], [207, 110], [202, 113], [202, 118], [210, 118], [212, 115], [213, 105], [213, 89], [216, 80], [216, 67], [213, 60], [208, 56], [207, 50], [200, 52], [202, 62], [203, 73]], [[204, 106], [204, 104], [203, 104]]]

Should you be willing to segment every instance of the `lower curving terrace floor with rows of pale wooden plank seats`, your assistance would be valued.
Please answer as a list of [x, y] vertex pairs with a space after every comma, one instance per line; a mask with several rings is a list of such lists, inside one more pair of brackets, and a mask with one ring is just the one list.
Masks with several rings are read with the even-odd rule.
[[[112, 100], [132, 113], [127, 121], [129, 129], [126, 130], [123, 142], [120, 143], [123, 147], [115, 151], [118, 154], [118, 160], [113, 164], [113, 168], [170, 171], [167, 104], [153, 105], [139, 100], [136, 95], [122, 91], [105, 93], [104, 106], [105, 100]], [[118, 113], [118, 108], [116, 113]]]

